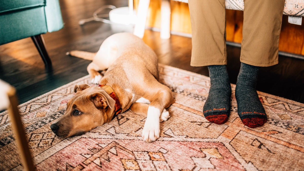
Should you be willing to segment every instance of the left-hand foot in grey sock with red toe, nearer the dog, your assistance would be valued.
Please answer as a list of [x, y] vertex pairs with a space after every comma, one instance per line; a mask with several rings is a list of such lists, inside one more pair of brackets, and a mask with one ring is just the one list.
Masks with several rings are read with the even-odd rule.
[[203, 107], [203, 113], [209, 122], [223, 124], [230, 114], [231, 86], [226, 65], [208, 66], [210, 89]]

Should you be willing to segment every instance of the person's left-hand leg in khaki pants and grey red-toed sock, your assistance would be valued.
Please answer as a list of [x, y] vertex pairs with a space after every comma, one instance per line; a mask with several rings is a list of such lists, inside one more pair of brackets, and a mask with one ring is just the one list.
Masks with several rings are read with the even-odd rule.
[[230, 114], [231, 86], [226, 70], [225, 0], [189, 1], [192, 66], [208, 66], [210, 89], [203, 111], [207, 120], [223, 124]]

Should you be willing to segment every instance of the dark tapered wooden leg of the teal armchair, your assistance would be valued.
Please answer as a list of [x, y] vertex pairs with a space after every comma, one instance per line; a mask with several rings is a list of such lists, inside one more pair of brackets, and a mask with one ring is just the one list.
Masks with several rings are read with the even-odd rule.
[[47, 49], [45, 48], [45, 43], [44, 43], [44, 40], [43, 40], [43, 37], [42, 37], [42, 34], [40, 35], [36, 35], [36, 36], [32, 36], [31, 37], [43, 62], [44, 62], [44, 65], [46, 67], [51, 67], [52, 66], [52, 62], [51, 62], [51, 59], [49, 57], [49, 55], [47, 54]]

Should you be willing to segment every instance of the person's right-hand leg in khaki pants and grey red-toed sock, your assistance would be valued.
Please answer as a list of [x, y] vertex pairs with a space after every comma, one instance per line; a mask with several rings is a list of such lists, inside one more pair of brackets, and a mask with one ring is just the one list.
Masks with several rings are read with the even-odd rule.
[[238, 114], [248, 127], [259, 127], [267, 121], [257, 95], [260, 66], [278, 63], [278, 42], [285, 0], [244, 1], [243, 40], [235, 97]]

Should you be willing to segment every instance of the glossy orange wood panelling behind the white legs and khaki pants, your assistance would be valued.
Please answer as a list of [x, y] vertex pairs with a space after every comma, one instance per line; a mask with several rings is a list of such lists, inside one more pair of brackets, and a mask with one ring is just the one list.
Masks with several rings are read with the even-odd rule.
[[[139, 0], [134, 0], [137, 9]], [[191, 33], [190, 13], [187, 3], [170, 1], [171, 30]], [[147, 26], [160, 28], [161, 0], [150, 0]], [[283, 15], [279, 50], [304, 55], [304, 21], [302, 26], [288, 23], [288, 16]], [[226, 9], [226, 40], [242, 42], [243, 11]]]

